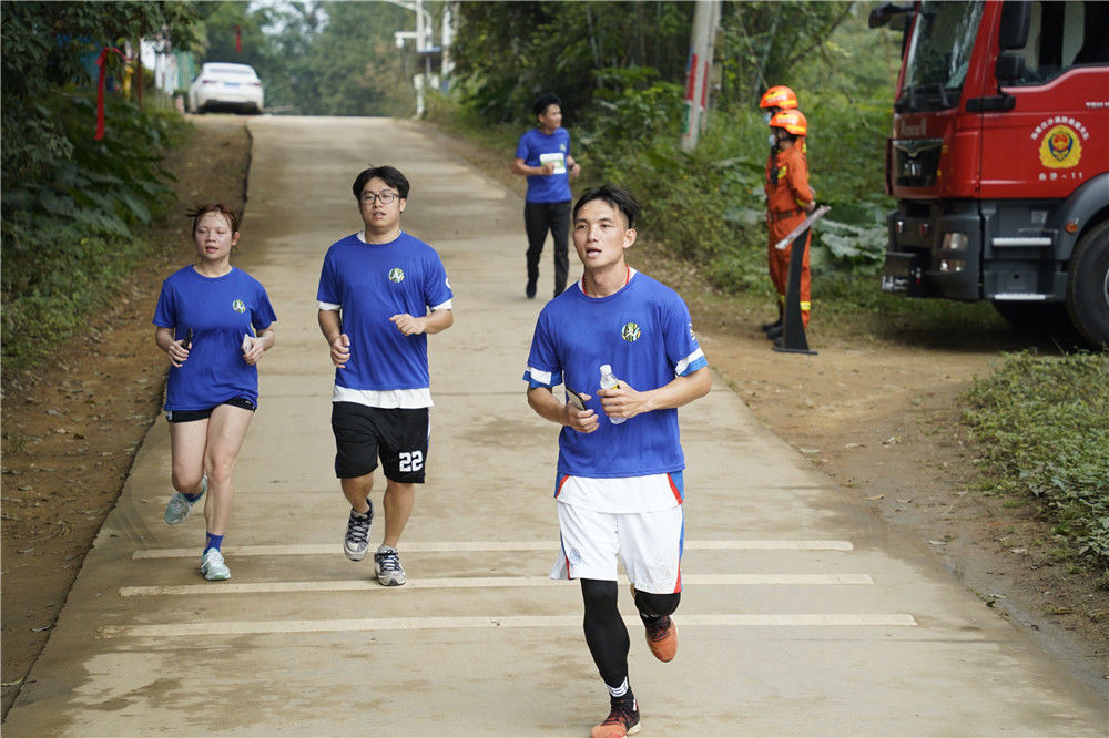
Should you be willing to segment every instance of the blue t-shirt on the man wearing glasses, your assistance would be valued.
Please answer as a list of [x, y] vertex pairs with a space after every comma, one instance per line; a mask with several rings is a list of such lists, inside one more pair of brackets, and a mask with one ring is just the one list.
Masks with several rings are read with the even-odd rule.
[[324, 257], [316, 299], [340, 306], [350, 360], [335, 383], [353, 390], [425, 389], [427, 334], [405, 336], [389, 321], [450, 300], [450, 283], [434, 248], [406, 233], [388, 244], [354, 234], [332, 244]]

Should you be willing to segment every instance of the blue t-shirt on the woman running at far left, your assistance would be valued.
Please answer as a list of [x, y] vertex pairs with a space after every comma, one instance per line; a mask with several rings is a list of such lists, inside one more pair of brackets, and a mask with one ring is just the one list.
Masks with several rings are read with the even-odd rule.
[[257, 279], [237, 267], [205, 277], [191, 266], [162, 283], [154, 325], [173, 328], [180, 340], [191, 328], [193, 344], [180, 367], [170, 367], [166, 410], [207, 410], [244, 398], [258, 404], [258, 368], [243, 360], [243, 336], [257, 335], [277, 319]]

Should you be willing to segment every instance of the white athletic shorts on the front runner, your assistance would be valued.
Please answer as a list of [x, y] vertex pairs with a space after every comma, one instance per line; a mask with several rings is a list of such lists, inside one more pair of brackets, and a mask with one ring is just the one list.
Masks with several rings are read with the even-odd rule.
[[617, 560], [640, 592], [682, 591], [682, 505], [642, 513], [609, 513], [559, 502], [562, 552], [552, 580], [615, 581]]

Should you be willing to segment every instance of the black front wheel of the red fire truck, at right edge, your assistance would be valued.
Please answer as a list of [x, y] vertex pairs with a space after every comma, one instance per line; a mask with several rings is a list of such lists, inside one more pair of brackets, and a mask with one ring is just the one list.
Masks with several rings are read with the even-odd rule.
[[1075, 246], [1067, 266], [1067, 312], [1095, 347], [1109, 346], [1109, 221]]

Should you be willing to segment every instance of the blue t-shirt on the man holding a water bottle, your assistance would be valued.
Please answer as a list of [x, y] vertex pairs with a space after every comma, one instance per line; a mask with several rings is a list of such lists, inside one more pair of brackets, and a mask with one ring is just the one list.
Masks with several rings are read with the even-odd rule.
[[603, 363], [638, 391], [658, 389], [708, 366], [678, 293], [638, 273], [608, 297], [587, 297], [579, 283], [539, 314], [523, 379], [531, 387], [564, 381], [576, 392], [593, 396], [587, 407], [597, 411], [600, 426], [592, 433], [562, 427], [560, 474], [603, 479], [683, 470], [678, 410], [653, 410], [612, 423], [597, 396]]

